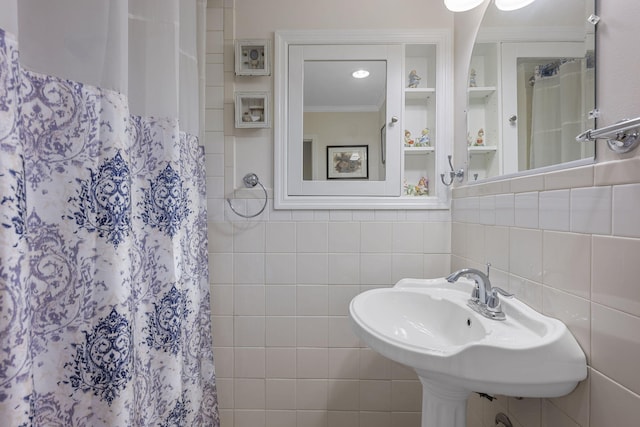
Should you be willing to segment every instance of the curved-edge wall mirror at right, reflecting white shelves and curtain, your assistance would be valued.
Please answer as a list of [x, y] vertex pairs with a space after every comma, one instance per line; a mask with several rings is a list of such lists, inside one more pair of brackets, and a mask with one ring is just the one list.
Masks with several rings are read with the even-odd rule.
[[595, 128], [593, 10], [593, 0], [488, 6], [469, 67], [469, 180], [594, 157], [593, 143], [575, 141]]

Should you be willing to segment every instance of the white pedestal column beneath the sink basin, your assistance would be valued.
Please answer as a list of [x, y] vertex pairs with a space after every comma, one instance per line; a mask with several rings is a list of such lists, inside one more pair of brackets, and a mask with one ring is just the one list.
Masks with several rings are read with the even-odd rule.
[[422, 383], [422, 427], [466, 427], [471, 392], [419, 376]]

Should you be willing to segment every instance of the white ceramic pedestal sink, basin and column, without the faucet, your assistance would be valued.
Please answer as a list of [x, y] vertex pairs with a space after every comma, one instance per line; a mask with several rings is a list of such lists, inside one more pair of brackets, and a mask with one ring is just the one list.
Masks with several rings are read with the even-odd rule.
[[517, 298], [506, 320], [467, 306], [473, 282], [403, 279], [357, 295], [356, 334], [373, 350], [412, 367], [422, 382], [422, 427], [465, 427], [469, 394], [557, 397], [587, 376], [567, 327]]

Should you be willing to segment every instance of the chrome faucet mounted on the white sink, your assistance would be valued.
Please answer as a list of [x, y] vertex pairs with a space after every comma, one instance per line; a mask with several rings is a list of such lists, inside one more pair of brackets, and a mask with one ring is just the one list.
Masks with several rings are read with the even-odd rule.
[[504, 320], [505, 315], [502, 311], [502, 304], [498, 294], [505, 297], [512, 297], [513, 294], [505, 291], [497, 286], [492, 287], [489, 280], [489, 267], [487, 264], [487, 274], [475, 268], [463, 268], [447, 276], [447, 282], [454, 283], [460, 277], [468, 277], [476, 282], [471, 291], [471, 298], [467, 305], [484, 317], [494, 320]]

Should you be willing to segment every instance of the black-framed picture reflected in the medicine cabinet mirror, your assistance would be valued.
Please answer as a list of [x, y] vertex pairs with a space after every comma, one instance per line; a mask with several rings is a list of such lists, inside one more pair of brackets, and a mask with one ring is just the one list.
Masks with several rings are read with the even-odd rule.
[[369, 146], [328, 145], [327, 179], [369, 179]]

